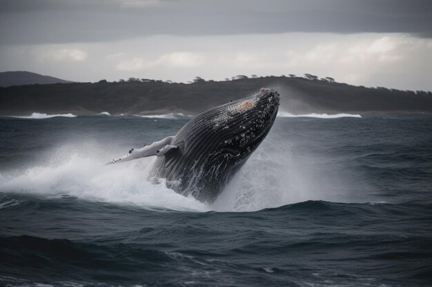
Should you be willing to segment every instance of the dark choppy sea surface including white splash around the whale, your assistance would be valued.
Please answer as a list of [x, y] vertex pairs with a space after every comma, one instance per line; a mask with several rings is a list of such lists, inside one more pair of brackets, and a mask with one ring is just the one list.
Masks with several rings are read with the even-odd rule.
[[0, 118], [0, 286], [432, 286], [432, 116], [281, 115], [213, 204], [104, 165], [188, 116]]

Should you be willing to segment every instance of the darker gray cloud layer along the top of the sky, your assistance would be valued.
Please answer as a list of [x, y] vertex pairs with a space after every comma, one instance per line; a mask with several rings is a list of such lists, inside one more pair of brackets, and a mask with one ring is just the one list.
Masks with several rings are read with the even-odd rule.
[[432, 1], [3, 0], [0, 25], [3, 45], [155, 34], [408, 32], [432, 37]]

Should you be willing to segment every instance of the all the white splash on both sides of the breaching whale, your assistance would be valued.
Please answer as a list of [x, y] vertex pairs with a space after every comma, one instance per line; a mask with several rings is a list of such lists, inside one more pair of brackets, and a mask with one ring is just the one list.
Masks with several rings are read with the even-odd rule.
[[[306, 200], [370, 202], [360, 198], [361, 175], [342, 167], [323, 167], [320, 159], [297, 151], [283, 127], [275, 123], [257, 151], [239, 170], [213, 204], [186, 198], [160, 184], [148, 182], [155, 157], [104, 166], [118, 151], [95, 142], [58, 147], [40, 163], [17, 172], [0, 174], [0, 191], [43, 196], [70, 195], [84, 200], [134, 204], [146, 209], [181, 211], [257, 211]], [[343, 172], [343, 173], [341, 173]], [[355, 184], [355, 182], [360, 182]]]

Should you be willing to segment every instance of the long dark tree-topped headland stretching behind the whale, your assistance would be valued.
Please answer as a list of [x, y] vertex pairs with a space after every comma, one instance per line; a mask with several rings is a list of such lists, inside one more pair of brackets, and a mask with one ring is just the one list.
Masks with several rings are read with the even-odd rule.
[[432, 113], [432, 93], [368, 88], [300, 77], [235, 78], [233, 81], [166, 83], [135, 79], [0, 87], [0, 115], [198, 114], [268, 87], [282, 96], [281, 109], [304, 113]]

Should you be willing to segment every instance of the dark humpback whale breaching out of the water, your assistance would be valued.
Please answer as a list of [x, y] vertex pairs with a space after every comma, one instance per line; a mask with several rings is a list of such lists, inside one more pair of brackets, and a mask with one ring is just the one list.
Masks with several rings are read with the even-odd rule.
[[279, 94], [260, 89], [257, 94], [204, 111], [175, 136], [141, 149], [130, 149], [125, 162], [157, 156], [149, 180], [166, 179], [168, 188], [211, 203], [264, 140], [275, 121]]

